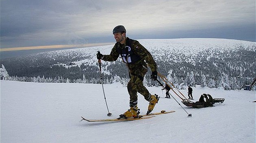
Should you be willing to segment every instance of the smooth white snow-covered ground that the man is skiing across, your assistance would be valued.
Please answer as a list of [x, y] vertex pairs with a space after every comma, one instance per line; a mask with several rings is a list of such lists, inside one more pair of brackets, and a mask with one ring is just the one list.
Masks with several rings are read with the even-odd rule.
[[[194, 102], [203, 93], [225, 98], [215, 107], [182, 107], [161, 98], [155, 111], [175, 110], [150, 119], [127, 122], [86, 122], [117, 118], [129, 108], [126, 87], [104, 84], [108, 113], [101, 84], [57, 84], [0, 82], [1, 143], [255, 143], [255, 91], [193, 88]], [[165, 96], [160, 87], [149, 91]], [[180, 90], [187, 96], [187, 90]], [[148, 102], [139, 96], [145, 114]]]

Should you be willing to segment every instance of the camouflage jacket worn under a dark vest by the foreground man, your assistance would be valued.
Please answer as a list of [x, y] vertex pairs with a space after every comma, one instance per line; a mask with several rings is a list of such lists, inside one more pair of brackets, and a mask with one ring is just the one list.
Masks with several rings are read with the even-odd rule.
[[[126, 39], [132, 40], [132, 39], [129, 39], [128, 37]], [[110, 55], [104, 55], [102, 60], [116, 61], [120, 55], [117, 48], [120, 48], [120, 49], [125, 48], [126, 45], [128, 45], [127, 40], [126, 40], [126, 43], [124, 44], [120, 44], [120, 42], [117, 42], [115, 46], [112, 48]], [[151, 71], [157, 70], [156, 62], [154, 61], [152, 55], [137, 40], [132, 40], [130, 48], [134, 54], [140, 57], [140, 60], [136, 61], [135, 63], [126, 63], [130, 71], [133, 71], [134, 69], [143, 68], [143, 66], [147, 67], [146, 63], [148, 63], [148, 66], [150, 67]]]

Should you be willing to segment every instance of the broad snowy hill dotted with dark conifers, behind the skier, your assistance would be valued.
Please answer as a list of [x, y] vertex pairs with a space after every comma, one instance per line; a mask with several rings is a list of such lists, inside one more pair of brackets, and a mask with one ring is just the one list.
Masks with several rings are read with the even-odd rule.
[[[228, 77], [239, 87], [249, 84], [255, 77], [255, 42], [213, 39], [143, 39], [138, 40], [154, 57], [158, 71], [176, 85], [193, 76], [195, 84], [220, 82]], [[0, 61], [14, 80], [37, 82], [100, 83], [96, 59], [98, 50], [108, 55], [113, 45], [57, 50], [23, 57], [7, 58]], [[126, 65], [118, 59], [115, 62], [102, 61], [104, 83], [126, 84], [129, 80]], [[192, 72], [191, 72], [192, 71]], [[149, 79], [149, 70], [144, 84], [155, 85]], [[205, 76], [205, 80], [202, 77]], [[22, 78], [23, 77], [23, 78]], [[22, 78], [22, 79], [21, 79]], [[234, 79], [235, 78], [235, 79]], [[236, 81], [234, 81], [236, 80]], [[229, 83], [231, 84], [231, 83]]]

